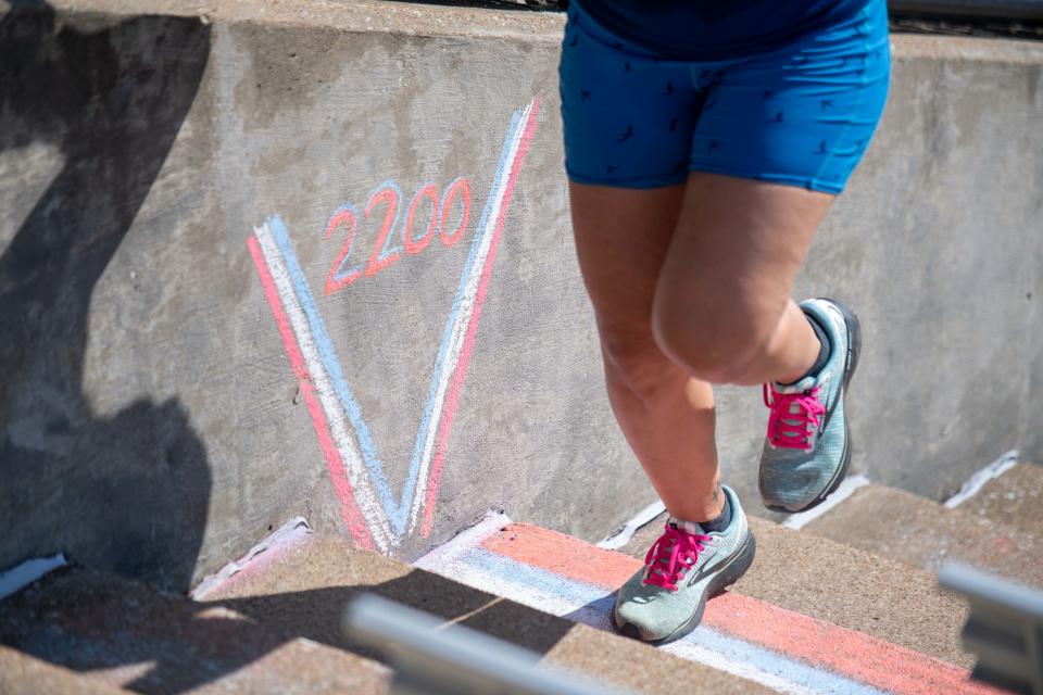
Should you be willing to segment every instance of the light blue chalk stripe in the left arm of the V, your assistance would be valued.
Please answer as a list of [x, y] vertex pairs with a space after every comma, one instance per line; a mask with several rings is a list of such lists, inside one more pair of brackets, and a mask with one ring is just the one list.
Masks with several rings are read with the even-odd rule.
[[359, 438], [359, 447], [362, 450], [363, 462], [369, 470], [370, 480], [377, 485], [380, 504], [384, 506], [395, 532], [401, 536], [404, 527], [397, 522], [394, 500], [388, 486], [388, 481], [384, 477], [384, 466], [377, 456], [376, 446], [373, 443], [373, 438], [369, 435], [369, 428], [366, 427], [366, 422], [362, 418], [362, 408], [352, 395], [351, 389], [348, 388], [348, 382], [344, 380], [340, 362], [338, 362], [337, 353], [334, 351], [334, 343], [329, 339], [329, 333], [326, 331], [326, 324], [323, 321], [323, 317], [315, 307], [315, 300], [312, 298], [312, 291], [307, 286], [307, 280], [304, 278], [304, 273], [301, 270], [301, 264], [297, 260], [297, 253], [293, 251], [293, 243], [290, 241], [289, 232], [282, 223], [282, 218], [278, 215], [268, 217], [267, 224], [272, 230], [272, 236], [275, 237], [276, 244], [279, 247], [279, 251], [282, 253], [286, 268], [290, 273], [290, 279], [293, 281], [293, 288], [297, 291], [304, 314], [307, 316], [307, 325], [312, 329], [312, 338], [315, 340], [315, 345], [318, 349], [323, 367], [325, 367], [326, 372], [329, 375], [334, 390], [337, 392], [337, 397], [340, 399], [341, 404], [344, 406], [348, 419], [351, 420], [355, 435]]

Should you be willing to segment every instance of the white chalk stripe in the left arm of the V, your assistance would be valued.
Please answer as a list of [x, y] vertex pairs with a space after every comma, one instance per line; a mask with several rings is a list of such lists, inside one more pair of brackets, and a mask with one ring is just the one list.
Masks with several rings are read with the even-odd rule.
[[344, 463], [344, 472], [352, 488], [355, 503], [365, 517], [369, 531], [373, 533], [374, 541], [381, 553], [388, 553], [398, 545], [398, 538], [391, 530], [390, 522], [373, 490], [373, 483], [369, 479], [368, 470], [362, 460], [362, 455], [350, 435], [350, 427], [344, 417], [343, 409], [334, 387], [329, 381], [326, 370], [323, 368], [322, 359], [318, 355], [318, 349], [312, 338], [311, 329], [307, 325], [307, 317], [301, 308], [293, 292], [293, 283], [290, 280], [289, 273], [282, 262], [275, 240], [272, 238], [272, 231], [267, 223], [254, 228], [254, 233], [261, 247], [261, 252], [272, 273], [276, 290], [282, 300], [282, 306], [290, 319], [290, 326], [297, 336], [298, 344], [301, 348], [301, 355], [307, 369], [311, 372], [312, 380], [315, 383], [315, 391], [318, 393], [319, 403], [323, 410], [326, 412], [326, 420], [329, 424], [330, 435]]

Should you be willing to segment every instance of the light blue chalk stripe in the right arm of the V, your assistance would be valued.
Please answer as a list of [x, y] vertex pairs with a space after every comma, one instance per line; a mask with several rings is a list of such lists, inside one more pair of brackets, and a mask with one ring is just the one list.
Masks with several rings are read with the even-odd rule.
[[[442, 342], [438, 346], [438, 356], [435, 358], [435, 369], [431, 371], [431, 384], [427, 391], [427, 404], [424, 406], [424, 415], [420, 419], [420, 427], [416, 432], [416, 442], [413, 445], [413, 456], [410, 459], [410, 472], [406, 476], [405, 488], [402, 490], [402, 498], [399, 506], [399, 514], [401, 516], [395, 517], [395, 527], [400, 525], [402, 528], [405, 526], [406, 515], [410, 513], [411, 502], [413, 501], [413, 494], [416, 490], [417, 477], [420, 470], [420, 457], [424, 455], [424, 442], [427, 440], [428, 431], [430, 428], [438, 425], [439, 418], [432, 417], [435, 415], [435, 401], [438, 397], [438, 387], [439, 387], [439, 375], [442, 371], [445, 359], [449, 356], [449, 343], [453, 336], [453, 325], [456, 323], [456, 315], [460, 313], [461, 305], [464, 301], [464, 292], [467, 289], [467, 278], [470, 276], [470, 269], [474, 267], [475, 262], [478, 258], [478, 250], [481, 248], [481, 240], [492, 233], [492, 229], [486, 229], [486, 223], [489, 218], [489, 213], [492, 210], [493, 200], [497, 197], [497, 191], [500, 190], [503, 182], [503, 177], [510, 173], [510, 162], [507, 160], [511, 156], [511, 149], [514, 144], [514, 141], [522, 137], [522, 109], [514, 112], [514, 116], [511, 118], [511, 125], [507, 127], [507, 135], [503, 140], [503, 149], [500, 151], [500, 162], [497, 164], [497, 175], [493, 177], [492, 187], [489, 189], [489, 197], [486, 199], [485, 208], [481, 212], [481, 218], [478, 220], [478, 226], [476, 229], [479, 233], [475, 235], [475, 240], [470, 244], [470, 254], [467, 256], [467, 262], [464, 264], [464, 271], [460, 276], [460, 285], [456, 288], [456, 295], [453, 298], [452, 311], [449, 314], [449, 319], [445, 321], [445, 328], [442, 331]], [[450, 375], [452, 378], [452, 375]], [[444, 404], [445, 402], [442, 401]], [[440, 415], [440, 414], [439, 414]]]

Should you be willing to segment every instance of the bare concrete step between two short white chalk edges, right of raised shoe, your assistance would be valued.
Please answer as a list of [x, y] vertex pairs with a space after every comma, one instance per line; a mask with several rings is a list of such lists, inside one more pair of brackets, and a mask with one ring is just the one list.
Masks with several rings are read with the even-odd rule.
[[959, 560], [1043, 586], [1043, 538], [894, 488], [860, 488], [804, 530], [932, 572]]

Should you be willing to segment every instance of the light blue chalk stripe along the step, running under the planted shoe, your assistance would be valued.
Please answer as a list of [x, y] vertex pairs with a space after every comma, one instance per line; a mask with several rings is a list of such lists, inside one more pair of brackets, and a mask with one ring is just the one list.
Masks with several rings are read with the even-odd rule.
[[[472, 567], [481, 569], [499, 578], [505, 585], [515, 585], [546, 594], [576, 608], [567, 618], [594, 628], [605, 629], [611, 624], [612, 607], [615, 596], [606, 595], [604, 589], [586, 582], [568, 579], [548, 570], [492, 553], [483, 548], [469, 548], [460, 559]], [[511, 596], [506, 596], [511, 598]], [[772, 649], [755, 645], [739, 637], [732, 637], [708, 627], [700, 627], [682, 642], [689, 642], [711, 652], [721, 654], [729, 660], [751, 664], [767, 673], [772, 673], [795, 685], [820, 693], [838, 695], [883, 695], [869, 685], [851, 680], [832, 671], [817, 668], [804, 661], [793, 659]]]

